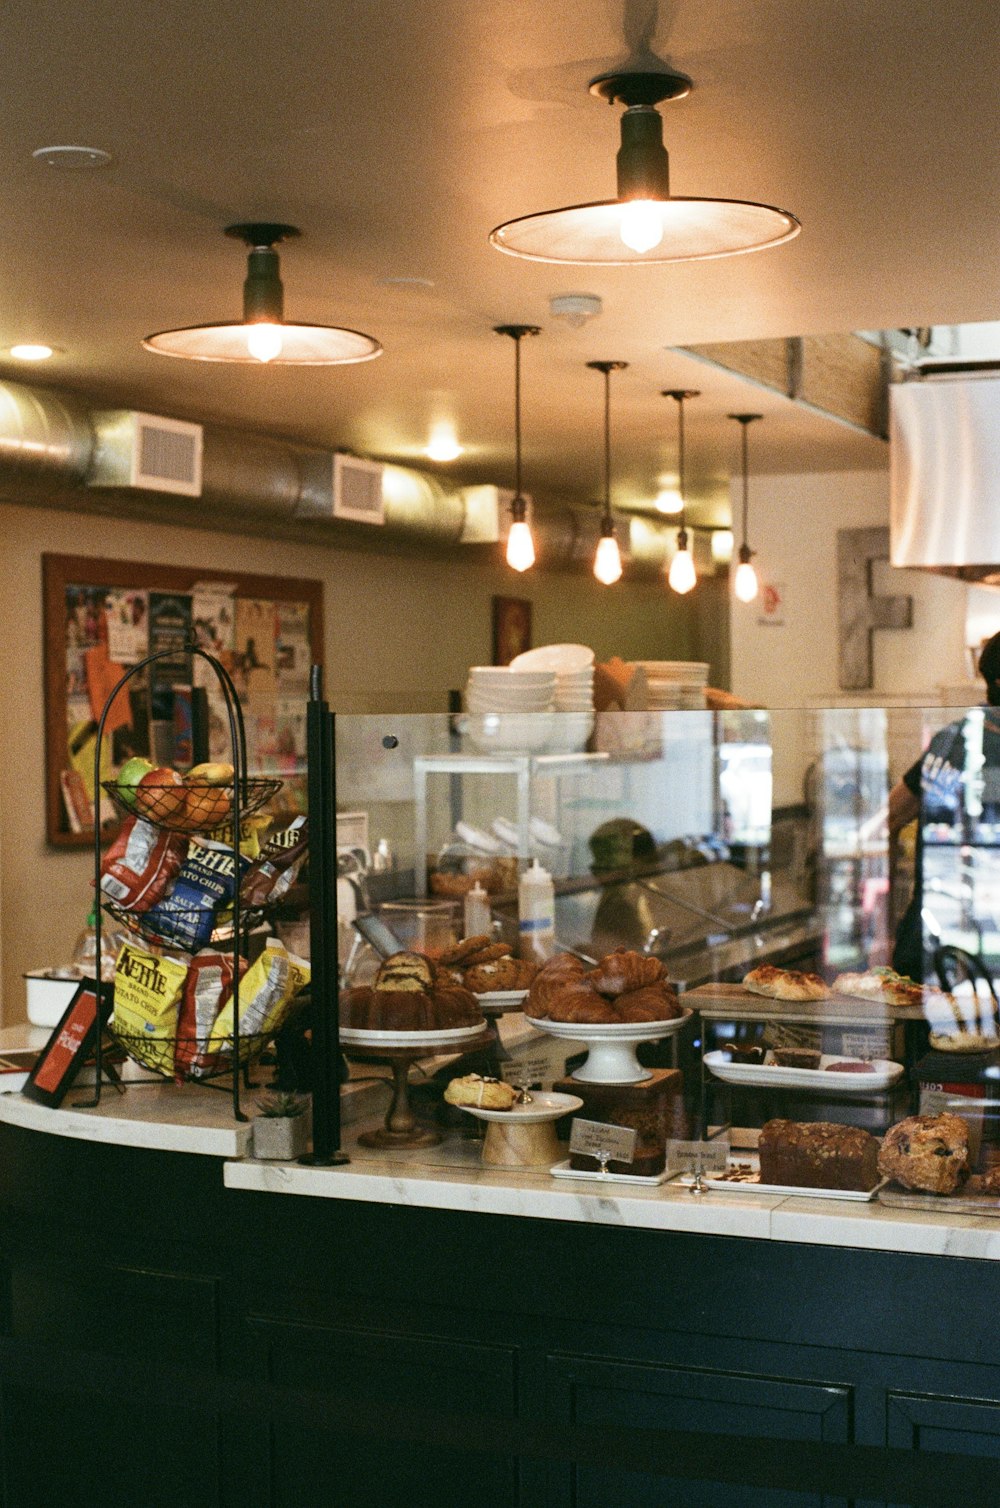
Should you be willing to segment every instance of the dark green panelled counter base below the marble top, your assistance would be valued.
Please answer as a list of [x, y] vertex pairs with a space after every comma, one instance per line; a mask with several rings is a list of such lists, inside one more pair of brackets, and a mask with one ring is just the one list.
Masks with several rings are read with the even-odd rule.
[[0, 1125], [5, 1508], [1000, 1500], [994, 1262], [275, 1197]]

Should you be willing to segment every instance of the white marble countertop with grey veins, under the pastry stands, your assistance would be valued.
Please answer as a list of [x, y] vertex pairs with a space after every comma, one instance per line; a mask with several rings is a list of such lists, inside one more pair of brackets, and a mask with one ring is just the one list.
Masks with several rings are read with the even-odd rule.
[[[516, 1034], [508, 1045], [520, 1042], [519, 1024], [504, 1027]], [[41, 1047], [47, 1039], [44, 1030], [8, 1027], [0, 1030], [0, 1051]], [[433, 1060], [425, 1066], [431, 1069]], [[204, 1086], [133, 1083], [125, 1095], [109, 1086], [95, 1110], [77, 1104], [87, 1096], [89, 1086], [80, 1086], [59, 1110], [50, 1110], [23, 1095], [0, 1093], [0, 1122], [50, 1136], [216, 1157], [228, 1188], [258, 1193], [1000, 1261], [1000, 1218], [985, 1214], [760, 1193], [695, 1196], [671, 1182], [603, 1185], [555, 1179], [548, 1169], [486, 1169], [481, 1142], [462, 1131], [448, 1133], [437, 1148], [370, 1151], [359, 1146], [357, 1134], [379, 1125], [385, 1113], [389, 1086], [380, 1078], [347, 1086], [344, 1143], [350, 1163], [335, 1169], [253, 1161], [247, 1155], [249, 1125], [232, 1119], [226, 1095]], [[246, 1108], [253, 1110], [252, 1093]]]

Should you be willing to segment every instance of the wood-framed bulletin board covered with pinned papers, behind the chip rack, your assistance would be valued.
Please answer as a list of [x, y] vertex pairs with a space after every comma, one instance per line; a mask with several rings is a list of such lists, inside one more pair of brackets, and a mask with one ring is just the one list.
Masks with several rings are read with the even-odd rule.
[[[45, 835], [94, 841], [97, 719], [115, 683], [154, 650], [176, 654], [140, 671], [104, 725], [101, 778], [140, 754], [190, 765], [192, 688], [204, 688], [208, 757], [228, 760], [229, 727], [211, 667], [186, 651], [192, 633], [232, 676], [252, 775], [279, 775], [290, 810], [305, 801], [309, 665], [323, 661], [323, 582], [293, 576], [42, 555], [45, 632]], [[107, 796], [101, 823], [115, 822]]]

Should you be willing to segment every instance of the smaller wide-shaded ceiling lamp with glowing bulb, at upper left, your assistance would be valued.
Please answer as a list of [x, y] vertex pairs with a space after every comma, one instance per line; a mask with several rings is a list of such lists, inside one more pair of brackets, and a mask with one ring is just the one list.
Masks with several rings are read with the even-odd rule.
[[249, 362], [271, 366], [342, 366], [382, 356], [371, 335], [332, 324], [287, 324], [285, 290], [275, 247], [302, 232], [294, 225], [229, 225], [226, 235], [249, 246], [243, 321], [158, 330], [142, 342], [157, 356], [189, 362]]

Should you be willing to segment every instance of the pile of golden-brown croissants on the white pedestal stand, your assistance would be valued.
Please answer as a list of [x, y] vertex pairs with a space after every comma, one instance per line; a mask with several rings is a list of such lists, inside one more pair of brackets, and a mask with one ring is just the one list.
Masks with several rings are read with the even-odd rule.
[[535, 974], [525, 1013], [538, 1021], [614, 1025], [674, 1021], [683, 1015], [677, 991], [658, 958], [617, 949], [596, 965], [557, 953]]

